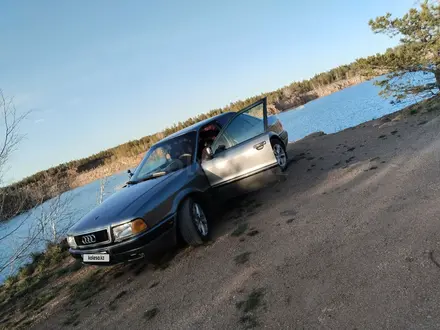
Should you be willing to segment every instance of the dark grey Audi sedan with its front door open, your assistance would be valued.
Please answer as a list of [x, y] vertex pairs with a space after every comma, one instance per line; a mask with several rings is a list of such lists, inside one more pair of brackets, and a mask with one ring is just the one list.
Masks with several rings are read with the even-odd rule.
[[70, 253], [114, 264], [156, 255], [182, 239], [202, 244], [212, 206], [258, 189], [287, 168], [288, 134], [266, 98], [187, 127], [153, 145], [124, 189], [68, 231]]

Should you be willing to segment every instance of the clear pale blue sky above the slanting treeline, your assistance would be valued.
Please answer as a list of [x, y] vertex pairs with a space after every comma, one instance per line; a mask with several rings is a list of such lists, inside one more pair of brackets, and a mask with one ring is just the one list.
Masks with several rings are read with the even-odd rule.
[[368, 20], [413, 5], [3, 0], [0, 88], [32, 109], [5, 181], [384, 51]]

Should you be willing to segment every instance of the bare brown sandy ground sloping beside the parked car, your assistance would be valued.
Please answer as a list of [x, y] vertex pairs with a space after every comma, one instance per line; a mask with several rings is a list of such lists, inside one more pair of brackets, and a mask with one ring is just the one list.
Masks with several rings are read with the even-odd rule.
[[440, 328], [437, 114], [289, 145], [287, 172], [229, 205], [210, 244], [133, 268], [36, 328]]

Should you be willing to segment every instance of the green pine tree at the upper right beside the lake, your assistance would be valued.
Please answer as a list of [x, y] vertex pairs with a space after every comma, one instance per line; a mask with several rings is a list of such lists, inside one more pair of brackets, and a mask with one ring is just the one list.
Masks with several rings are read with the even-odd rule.
[[[398, 47], [366, 59], [371, 69], [389, 72], [386, 79], [377, 83], [384, 87], [383, 94], [400, 99], [408, 95], [438, 93], [440, 2], [425, 1], [419, 9], [412, 8], [401, 18], [392, 18], [387, 13], [370, 20], [369, 25], [374, 33], [400, 37]], [[424, 75], [420, 79], [421, 73]]]

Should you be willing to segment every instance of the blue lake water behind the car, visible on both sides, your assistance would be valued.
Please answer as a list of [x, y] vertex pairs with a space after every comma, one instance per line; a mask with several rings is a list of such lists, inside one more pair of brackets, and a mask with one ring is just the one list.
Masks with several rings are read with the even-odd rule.
[[[368, 81], [319, 98], [297, 109], [279, 114], [278, 117], [283, 123], [284, 128], [289, 132], [289, 140], [295, 141], [316, 131], [335, 133], [400, 110], [408, 104], [417, 101], [416, 99], [411, 99], [406, 103], [392, 105], [390, 100], [383, 99], [378, 95], [378, 92], [379, 88], [374, 86], [372, 81]], [[127, 179], [128, 176], [125, 171], [108, 178], [105, 185], [104, 198], [120, 189]], [[99, 192], [100, 181], [98, 180], [64, 193], [61, 198], [62, 200], [69, 201], [69, 211], [71, 214], [69, 219], [64, 219], [58, 224], [58, 231], [62, 231], [63, 227], [78, 221], [86, 212], [96, 206]], [[30, 228], [33, 228], [30, 225], [53, 209], [51, 203], [53, 201], [48, 201], [26, 214], [0, 224], [1, 238], [23, 222], [23, 225], [13, 235], [2, 241], [0, 245], [0, 264], [2, 264], [2, 260], [9, 258], [18, 249], [23, 247], [26, 237], [29, 236]], [[48, 232], [50, 233], [50, 229], [48, 229]], [[48, 235], [47, 232], [45, 234]], [[32, 251], [41, 251], [44, 246], [44, 242], [39, 240], [32, 245]], [[16, 262], [0, 273], [0, 283], [4, 280], [5, 276], [14, 272], [25, 261]]]

